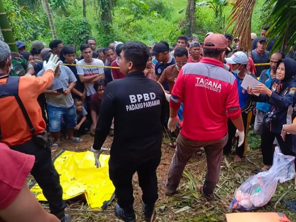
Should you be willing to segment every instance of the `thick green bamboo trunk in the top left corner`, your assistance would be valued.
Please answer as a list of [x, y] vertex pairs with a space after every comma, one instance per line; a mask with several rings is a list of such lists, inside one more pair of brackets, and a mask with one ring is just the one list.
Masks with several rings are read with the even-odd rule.
[[2, 0], [0, 0], [0, 28], [3, 39], [9, 45], [10, 50], [12, 52], [18, 52], [17, 45], [15, 44], [15, 38], [13, 37], [12, 29], [10, 28], [10, 23]]

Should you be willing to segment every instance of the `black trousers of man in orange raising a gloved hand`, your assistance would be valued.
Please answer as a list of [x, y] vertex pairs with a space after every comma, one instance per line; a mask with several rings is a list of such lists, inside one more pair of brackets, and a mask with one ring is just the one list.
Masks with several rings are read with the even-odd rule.
[[38, 147], [33, 140], [21, 145], [11, 146], [12, 150], [35, 156], [35, 163], [31, 170], [32, 176], [42, 189], [44, 197], [49, 203], [50, 213], [59, 219], [65, 216], [64, 209], [67, 206], [63, 201], [63, 190], [59, 182], [59, 174], [52, 162], [52, 152], [49, 144], [46, 147]]

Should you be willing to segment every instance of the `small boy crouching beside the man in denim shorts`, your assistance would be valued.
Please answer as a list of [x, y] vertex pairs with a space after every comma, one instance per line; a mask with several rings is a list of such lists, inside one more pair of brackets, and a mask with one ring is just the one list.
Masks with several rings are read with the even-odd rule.
[[[89, 131], [90, 123], [86, 119], [87, 111], [83, 107], [82, 100], [79, 98], [74, 99], [74, 105], [76, 107], [77, 125], [74, 127], [75, 133], [78, 135], [84, 135]], [[75, 136], [78, 136], [75, 135]]]

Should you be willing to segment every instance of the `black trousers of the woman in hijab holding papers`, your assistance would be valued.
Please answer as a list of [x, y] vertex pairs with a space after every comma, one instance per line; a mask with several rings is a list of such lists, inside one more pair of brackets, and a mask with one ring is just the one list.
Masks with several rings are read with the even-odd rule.
[[287, 134], [286, 140], [284, 141], [281, 138], [281, 134], [271, 132], [270, 129], [267, 128], [265, 124], [263, 124], [261, 136], [261, 151], [264, 165], [272, 165], [274, 156], [274, 138], [276, 138], [276, 140], [278, 141], [279, 147], [281, 148], [281, 152], [283, 154], [295, 156], [294, 152], [292, 151], [292, 134]]

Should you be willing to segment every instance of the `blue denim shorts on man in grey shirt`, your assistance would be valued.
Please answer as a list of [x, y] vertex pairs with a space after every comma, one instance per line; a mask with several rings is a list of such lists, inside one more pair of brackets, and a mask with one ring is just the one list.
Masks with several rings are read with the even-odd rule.
[[76, 108], [75, 105], [70, 108], [61, 108], [47, 104], [47, 114], [49, 118], [49, 131], [59, 132], [61, 130], [61, 119], [65, 120], [67, 128], [76, 126]]

